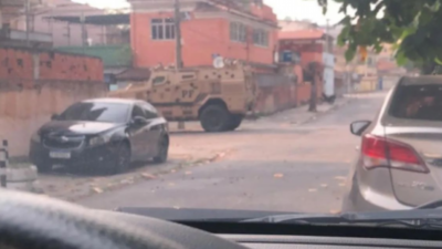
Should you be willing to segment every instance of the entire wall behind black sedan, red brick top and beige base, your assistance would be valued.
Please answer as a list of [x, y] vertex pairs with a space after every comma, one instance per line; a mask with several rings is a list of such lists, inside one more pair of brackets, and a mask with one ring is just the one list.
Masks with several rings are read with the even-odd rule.
[[104, 95], [99, 59], [0, 49], [0, 139], [25, 156], [31, 135], [72, 103]]

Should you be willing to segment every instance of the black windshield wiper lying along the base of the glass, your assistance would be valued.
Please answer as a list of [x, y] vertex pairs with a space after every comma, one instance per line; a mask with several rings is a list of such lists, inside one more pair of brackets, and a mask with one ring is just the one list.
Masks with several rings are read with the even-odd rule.
[[341, 215], [277, 215], [241, 222], [271, 224], [306, 224], [306, 225], [373, 225], [373, 226], [407, 226], [413, 228], [442, 228], [442, 210], [411, 209], [379, 212], [346, 212]]

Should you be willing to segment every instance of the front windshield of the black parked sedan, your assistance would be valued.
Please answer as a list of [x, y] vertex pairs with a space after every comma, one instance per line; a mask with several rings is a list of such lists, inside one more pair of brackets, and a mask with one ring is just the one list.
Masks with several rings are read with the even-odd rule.
[[83, 102], [69, 107], [57, 120], [124, 123], [128, 111], [128, 104]]

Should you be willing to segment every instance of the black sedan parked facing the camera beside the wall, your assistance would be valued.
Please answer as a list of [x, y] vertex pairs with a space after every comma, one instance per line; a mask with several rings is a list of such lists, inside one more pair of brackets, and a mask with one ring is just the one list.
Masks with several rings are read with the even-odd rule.
[[30, 158], [40, 172], [53, 165], [126, 170], [134, 160], [167, 160], [167, 121], [147, 102], [97, 98], [75, 103], [31, 138]]

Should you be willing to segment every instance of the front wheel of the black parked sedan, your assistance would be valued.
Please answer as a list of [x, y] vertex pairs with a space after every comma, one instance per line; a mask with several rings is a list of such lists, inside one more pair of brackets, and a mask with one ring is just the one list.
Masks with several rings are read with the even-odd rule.
[[110, 156], [112, 160], [109, 162], [110, 167], [108, 167], [109, 173], [119, 174], [126, 172], [130, 165], [129, 145], [127, 143], [117, 143], [110, 146], [113, 155]]

